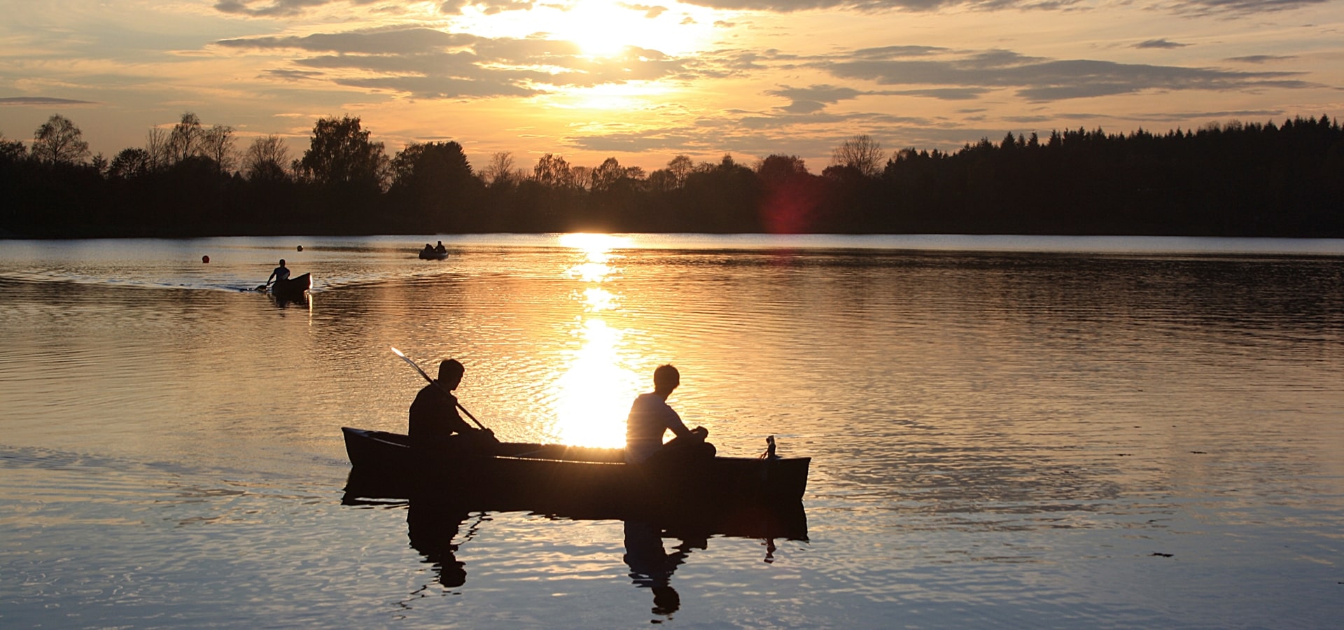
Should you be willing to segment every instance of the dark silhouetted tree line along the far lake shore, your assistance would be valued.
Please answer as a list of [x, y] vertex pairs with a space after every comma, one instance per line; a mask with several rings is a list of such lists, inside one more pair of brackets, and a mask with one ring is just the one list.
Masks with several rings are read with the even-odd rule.
[[458, 142], [388, 156], [358, 117], [319, 120], [296, 159], [278, 136], [184, 113], [144, 146], [90, 154], [55, 114], [32, 142], [0, 134], [0, 236], [469, 232], [775, 232], [1344, 236], [1344, 132], [1328, 117], [1198, 130], [1008, 133], [958, 150], [887, 153], [870, 136], [820, 175], [770, 154], [679, 154], [645, 172], [610, 157], [473, 168]]

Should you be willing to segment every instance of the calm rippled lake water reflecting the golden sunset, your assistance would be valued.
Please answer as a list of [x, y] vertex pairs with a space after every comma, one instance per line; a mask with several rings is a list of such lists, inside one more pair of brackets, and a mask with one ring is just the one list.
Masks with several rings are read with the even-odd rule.
[[[0, 626], [1344, 618], [1344, 242], [437, 239], [0, 240]], [[247, 291], [278, 258], [308, 304]], [[671, 361], [720, 454], [813, 458], [805, 536], [664, 537], [675, 610], [621, 521], [413, 540], [341, 502], [340, 427], [422, 383], [390, 347], [599, 446]]]

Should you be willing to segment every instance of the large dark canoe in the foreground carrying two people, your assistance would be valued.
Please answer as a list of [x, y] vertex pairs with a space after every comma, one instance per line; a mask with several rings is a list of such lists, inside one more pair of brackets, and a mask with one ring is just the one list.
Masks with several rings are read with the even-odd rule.
[[[788, 504], [802, 500], [812, 458], [707, 457], [632, 466], [624, 449], [499, 443], [493, 453], [425, 457], [405, 434], [341, 427], [352, 489], [384, 497], [507, 497], [530, 509], [556, 505], [613, 514], [649, 509]], [[372, 492], [362, 490], [372, 489]]]

